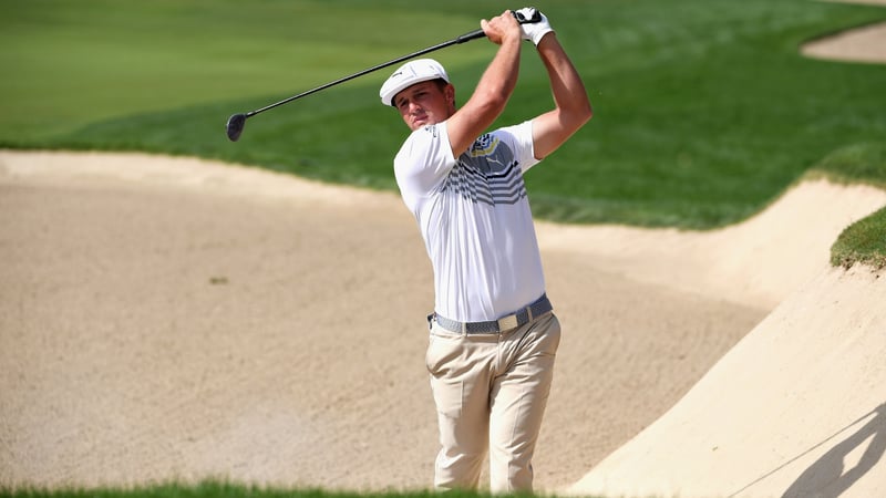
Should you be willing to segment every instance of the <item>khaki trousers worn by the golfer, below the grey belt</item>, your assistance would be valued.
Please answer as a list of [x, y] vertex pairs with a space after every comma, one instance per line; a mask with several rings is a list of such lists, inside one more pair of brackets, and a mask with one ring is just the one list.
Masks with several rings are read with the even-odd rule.
[[431, 323], [425, 361], [437, 409], [437, 489], [476, 489], [490, 455], [493, 492], [532, 492], [560, 325], [546, 313], [516, 329], [462, 334]]

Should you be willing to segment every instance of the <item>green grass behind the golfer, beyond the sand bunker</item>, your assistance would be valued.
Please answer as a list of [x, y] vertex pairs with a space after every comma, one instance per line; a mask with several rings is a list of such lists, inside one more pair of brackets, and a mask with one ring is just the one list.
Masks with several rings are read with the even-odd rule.
[[[198, 155], [327, 181], [394, 188], [405, 128], [382, 107], [388, 70], [247, 123], [230, 114], [476, 28], [509, 7], [454, 0], [0, 0], [0, 146]], [[540, 217], [712, 228], [780, 195], [811, 166], [886, 136], [886, 66], [803, 59], [816, 34], [886, 10], [808, 0], [559, 0], [538, 4], [585, 76], [596, 116], [527, 181]], [[332, 35], [331, 33], [334, 33]], [[464, 100], [494, 48], [433, 56]], [[549, 107], [524, 53], [502, 123]]]

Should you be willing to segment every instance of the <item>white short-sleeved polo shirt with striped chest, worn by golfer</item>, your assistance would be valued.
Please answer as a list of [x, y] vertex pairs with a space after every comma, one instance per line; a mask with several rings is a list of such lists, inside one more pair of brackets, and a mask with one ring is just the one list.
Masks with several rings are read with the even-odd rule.
[[545, 291], [523, 173], [537, 164], [532, 122], [482, 135], [452, 156], [446, 123], [413, 132], [394, 175], [434, 269], [434, 311], [497, 320]]

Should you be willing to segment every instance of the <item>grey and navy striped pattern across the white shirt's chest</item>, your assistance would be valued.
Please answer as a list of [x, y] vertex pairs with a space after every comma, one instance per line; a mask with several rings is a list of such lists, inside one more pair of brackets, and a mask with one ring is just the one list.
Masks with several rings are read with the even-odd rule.
[[514, 152], [492, 134], [482, 135], [459, 156], [442, 190], [490, 206], [513, 205], [526, 197]]

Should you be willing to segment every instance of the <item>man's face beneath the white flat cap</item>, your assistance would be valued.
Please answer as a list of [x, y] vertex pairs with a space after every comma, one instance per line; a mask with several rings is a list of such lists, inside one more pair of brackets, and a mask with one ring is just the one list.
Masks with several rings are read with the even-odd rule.
[[394, 106], [413, 132], [442, 123], [455, 112], [455, 89], [437, 81], [423, 81], [394, 95]]

